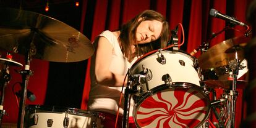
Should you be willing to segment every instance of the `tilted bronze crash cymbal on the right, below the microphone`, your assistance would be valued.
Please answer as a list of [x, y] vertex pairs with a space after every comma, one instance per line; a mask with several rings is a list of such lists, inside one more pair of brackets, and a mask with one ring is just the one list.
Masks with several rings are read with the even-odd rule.
[[200, 68], [208, 69], [228, 65], [228, 62], [234, 60], [236, 57], [236, 52], [233, 51], [234, 49], [237, 50], [238, 59], [243, 60], [243, 47], [249, 40], [249, 37], [238, 36], [210, 47], [207, 52], [204, 52], [200, 57], [198, 57], [198, 64]]

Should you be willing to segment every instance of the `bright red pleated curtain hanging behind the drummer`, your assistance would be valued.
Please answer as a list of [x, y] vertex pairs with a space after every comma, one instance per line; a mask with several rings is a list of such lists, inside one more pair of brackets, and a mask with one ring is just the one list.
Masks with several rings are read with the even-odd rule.
[[[247, 1], [226, 1], [226, 0], [103, 0], [95, 1], [92, 4], [88, 4], [88, 0], [83, 0], [83, 14], [82, 19], [93, 20], [92, 30], [87, 29], [87, 25], [84, 22], [81, 23], [83, 32], [90, 31], [91, 41], [101, 33], [103, 30], [116, 30], [119, 25], [127, 22], [130, 18], [134, 17], [139, 12], [145, 9], [152, 9], [163, 14], [169, 22], [170, 29], [173, 30], [178, 23], [182, 23], [185, 32], [185, 43], [181, 47], [181, 50], [185, 50], [190, 53], [192, 50], [197, 49], [202, 42], [207, 41], [210, 38], [211, 33], [218, 33], [225, 27], [225, 21], [213, 18], [209, 15], [210, 9], [216, 9], [223, 14], [227, 14], [236, 17], [241, 22], [245, 22], [245, 14], [247, 5], [251, 0]], [[90, 9], [88, 10], [89, 6]], [[87, 19], [86, 12], [93, 12], [93, 19]], [[82, 20], [83, 21], [83, 20]], [[235, 28], [242, 30], [241, 26]], [[218, 44], [226, 39], [241, 36], [243, 33], [239, 33], [234, 30], [224, 31], [216, 36], [216, 38], [210, 41], [210, 47]], [[179, 28], [179, 42], [181, 41], [181, 29]], [[198, 52], [195, 57], [200, 57]], [[90, 90], [90, 59], [87, 65], [87, 74], [85, 76], [85, 85], [83, 89], [82, 105], [81, 109], [87, 109], [88, 93]], [[245, 85], [241, 85], [245, 86]], [[236, 126], [241, 123], [242, 118], [245, 116], [243, 113], [243, 90], [237, 89], [239, 95], [237, 97], [236, 106]], [[222, 94], [221, 89], [216, 89], [217, 98]]]

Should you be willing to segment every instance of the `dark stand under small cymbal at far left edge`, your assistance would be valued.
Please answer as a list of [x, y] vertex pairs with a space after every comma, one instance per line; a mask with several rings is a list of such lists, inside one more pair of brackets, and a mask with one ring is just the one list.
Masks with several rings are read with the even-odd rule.
[[1, 70], [2, 77], [0, 78], [0, 86], [1, 86], [1, 105], [0, 105], [0, 127], [2, 126], [2, 116], [6, 114], [4, 110], [4, 92], [7, 84], [11, 79], [11, 75], [9, 74], [9, 66], [6, 64], [4, 65], [4, 70]]

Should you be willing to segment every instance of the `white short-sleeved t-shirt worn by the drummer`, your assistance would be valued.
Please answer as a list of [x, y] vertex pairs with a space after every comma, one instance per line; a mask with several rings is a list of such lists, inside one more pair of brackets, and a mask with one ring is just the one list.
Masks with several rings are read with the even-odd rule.
[[[109, 70], [115, 74], [125, 75], [127, 70], [130, 68], [132, 63], [129, 63], [127, 58], [122, 54], [121, 48], [117, 41], [116, 36], [111, 31], [103, 31], [100, 36], [105, 37], [112, 45], [112, 57], [111, 63], [109, 65]], [[109, 43], [106, 42], [106, 43]], [[98, 42], [95, 42], [96, 45]], [[106, 113], [116, 114], [119, 104], [119, 99], [121, 95], [122, 87], [108, 87], [97, 84], [95, 81], [95, 55], [92, 56], [91, 68], [90, 68], [90, 77], [91, 77], [91, 87], [88, 101], [88, 109], [93, 111], [103, 111]], [[126, 87], [124, 87], [125, 90]], [[124, 90], [122, 95], [122, 106], [119, 108], [119, 114], [122, 115], [124, 110]], [[132, 116], [134, 102], [130, 100], [130, 112], [129, 116]]]

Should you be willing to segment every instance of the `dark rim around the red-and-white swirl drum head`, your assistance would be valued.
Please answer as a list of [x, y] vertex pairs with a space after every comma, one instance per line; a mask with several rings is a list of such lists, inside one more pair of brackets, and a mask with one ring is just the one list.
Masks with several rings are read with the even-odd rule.
[[[211, 108], [210, 103], [211, 102], [210, 102], [209, 95], [203, 93], [202, 87], [197, 86], [196, 84], [192, 84], [190, 82], [172, 82], [171, 86], [175, 86], [175, 87], [179, 87], [179, 88], [181, 88], [181, 87], [186, 87], [186, 88], [194, 87], [194, 88], [196, 88], [195, 90], [202, 90], [202, 91], [198, 91], [198, 92], [200, 92], [200, 94], [203, 94], [203, 96], [206, 98], [208, 108], [207, 108], [207, 113], [205, 114], [205, 118], [202, 119], [202, 121], [200, 123], [198, 123], [196, 127], [201, 126], [203, 124], [203, 122], [205, 122], [207, 120], [208, 116], [210, 115], [210, 108]], [[135, 122], [137, 127], [140, 127], [140, 126], [137, 122], [137, 113], [136, 112], [138, 111], [139, 106], [141, 105], [141, 103], [144, 100], [146, 100], [147, 97], [150, 97], [151, 95], [154, 95], [154, 94], [158, 93], [161, 90], [170, 89], [170, 88], [171, 87], [166, 86], [166, 84], [162, 84], [160, 86], [157, 86], [157, 87], [151, 89], [150, 92], [147, 92], [147, 93], [140, 96], [141, 98], [140, 98], [139, 102], [134, 104], [134, 110], [132, 111], [132, 116], [134, 118], [134, 122]]]

